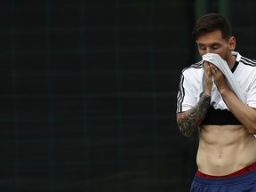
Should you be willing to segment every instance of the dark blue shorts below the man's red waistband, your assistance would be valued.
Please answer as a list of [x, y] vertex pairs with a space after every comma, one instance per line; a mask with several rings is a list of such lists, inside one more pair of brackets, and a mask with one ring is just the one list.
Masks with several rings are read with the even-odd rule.
[[195, 175], [190, 192], [255, 192], [256, 170], [229, 178], [203, 178]]

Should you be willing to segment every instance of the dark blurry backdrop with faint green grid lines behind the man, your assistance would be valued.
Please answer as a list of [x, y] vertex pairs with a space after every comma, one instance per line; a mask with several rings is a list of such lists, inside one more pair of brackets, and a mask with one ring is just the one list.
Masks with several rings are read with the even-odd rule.
[[187, 192], [197, 136], [176, 125], [191, 30], [232, 23], [256, 59], [256, 1], [4, 0], [0, 191]]

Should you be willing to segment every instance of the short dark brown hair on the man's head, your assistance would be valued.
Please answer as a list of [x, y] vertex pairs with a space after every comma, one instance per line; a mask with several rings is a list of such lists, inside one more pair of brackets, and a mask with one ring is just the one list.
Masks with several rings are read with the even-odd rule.
[[192, 36], [194, 39], [197, 39], [198, 36], [204, 36], [215, 30], [221, 31], [223, 39], [228, 40], [228, 38], [232, 36], [232, 29], [229, 21], [217, 13], [205, 14], [197, 20]]

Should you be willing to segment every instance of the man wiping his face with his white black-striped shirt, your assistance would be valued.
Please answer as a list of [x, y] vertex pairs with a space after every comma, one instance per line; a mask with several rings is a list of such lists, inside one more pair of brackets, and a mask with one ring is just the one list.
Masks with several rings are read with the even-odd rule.
[[201, 60], [183, 69], [177, 124], [187, 137], [199, 132], [198, 171], [190, 191], [256, 191], [256, 60], [234, 52], [236, 38], [219, 14], [197, 20], [192, 35], [203, 58], [217, 55], [228, 65], [245, 102], [213, 62]]

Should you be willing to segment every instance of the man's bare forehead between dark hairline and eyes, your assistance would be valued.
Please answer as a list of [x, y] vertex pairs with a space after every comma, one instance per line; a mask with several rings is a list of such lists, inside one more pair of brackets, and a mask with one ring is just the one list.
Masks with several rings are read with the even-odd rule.
[[222, 44], [225, 39], [222, 38], [220, 30], [212, 31], [204, 34], [203, 36], [198, 36], [196, 40], [197, 44]]

